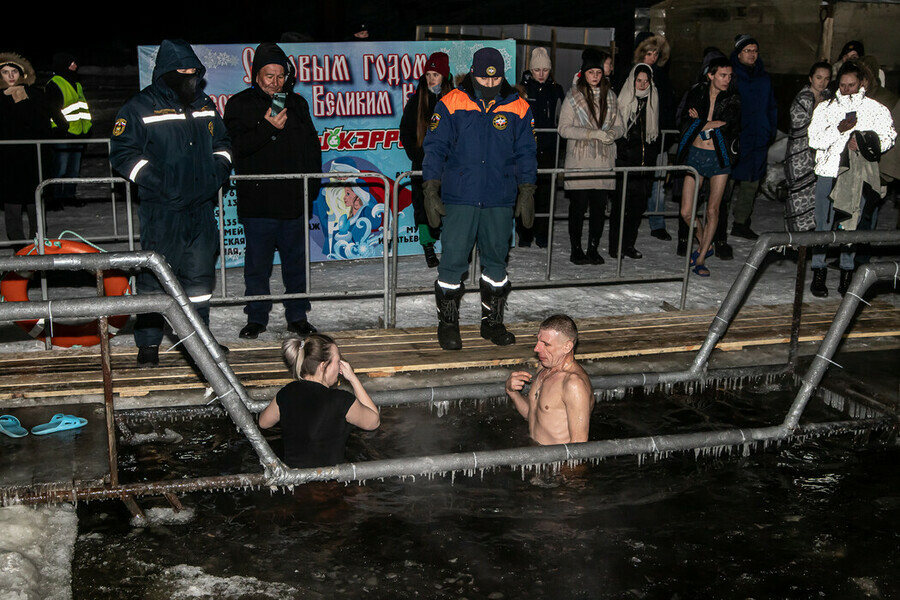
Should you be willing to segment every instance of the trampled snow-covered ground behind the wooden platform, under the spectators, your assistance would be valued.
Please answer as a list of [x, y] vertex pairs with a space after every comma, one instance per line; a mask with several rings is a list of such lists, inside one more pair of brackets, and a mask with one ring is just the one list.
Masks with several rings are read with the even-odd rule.
[[[564, 215], [567, 203], [559, 194], [557, 214]], [[675, 211], [675, 204], [667, 206]], [[123, 204], [117, 206], [119, 231], [124, 235], [125, 209]], [[783, 231], [783, 205], [760, 196], [754, 212], [753, 228], [757, 232]], [[48, 235], [56, 237], [63, 231], [72, 231], [86, 238], [112, 234], [111, 203], [94, 200], [85, 207], [68, 207], [64, 211], [47, 213]], [[882, 207], [879, 217], [879, 228], [893, 229], [897, 224], [897, 204], [888, 200]], [[667, 221], [671, 234], [677, 231], [677, 221]], [[607, 224], [607, 229], [609, 224]], [[560, 220], [555, 226], [553, 250], [550, 263], [553, 280], [585, 280], [602, 278], [615, 279], [616, 264], [609, 257], [607, 237], [601, 242], [601, 254], [606, 258], [602, 266], [576, 266], [568, 261], [568, 236], [565, 233], [566, 221]], [[735, 260], [722, 261], [715, 257], [707, 261], [712, 273], [703, 279], [690, 276], [689, 290], [685, 308], [714, 308], [719, 305], [725, 293], [743, 266], [743, 260], [753, 246], [753, 242], [731, 237], [729, 242], [734, 247]], [[684, 259], [675, 254], [675, 241], [663, 242], [649, 235], [647, 222], [644, 221], [639, 235], [637, 247], [644, 254], [640, 260], [623, 259], [622, 278], [680, 277]], [[124, 243], [101, 244], [107, 250], [127, 249]], [[894, 249], [896, 251], [896, 248]], [[895, 258], [887, 256], [887, 258]], [[517, 284], [524, 281], [542, 281], [547, 273], [546, 251], [533, 246], [531, 248], [513, 248], [510, 253], [510, 279], [513, 291], [509, 298], [506, 312], [507, 322], [539, 321], [553, 312], [564, 312], [574, 318], [587, 318], [618, 314], [635, 314], [658, 312], [678, 307], [681, 298], [681, 281], [666, 283], [620, 283], [591, 287], [540, 288], [532, 290], [517, 289]], [[342, 263], [314, 263], [311, 268], [311, 291], [342, 293], [347, 290], [378, 290], [383, 285], [383, 261], [381, 259], [346, 261]], [[399, 286], [401, 288], [424, 289], [432, 285], [436, 270], [428, 269], [421, 256], [401, 257], [399, 261]], [[810, 273], [807, 270], [808, 289]], [[786, 304], [793, 300], [794, 278], [796, 277], [796, 261], [793, 254], [772, 254], [757, 277], [756, 283], [747, 299], [747, 304]], [[227, 290], [230, 297], [239, 296], [243, 292], [243, 278], [240, 268], [228, 269], [226, 274]], [[837, 297], [837, 271], [829, 274], [830, 299]], [[480, 308], [477, 298], [477, 285], [468, 284], [470, 292], [463, 298], [461, 320], [463, 323], [477, 323], [480, 319]], [[274, 293], [281, 291], [278, 268], [272, 278]], [[90, 293], [90, 290], [85, 290]], [[67, 290], [66, 293], [71, 293]], [[32, 291], [36, 294], [36, 291]], [[78, 295], [83, 295], [79, 293]], [[216, 297], [221, 295], [220, 288]], [[34, 296], [32, 296], [34, 297]], [[58, 297], [53, 296], [51, 297]], [[882, 298], [889, 302], [898, 302], [896, 295], [887, 294]], [[817, 302], [808, 292], [804, 300]], [[340, 331], [345, 329], [377, 328], [382, 324], [383, 300], [381, 297], [368, 299], [315, 300], [309, 314], [310, 321], [321, 331]], [[431, 294], [401, 296], [397, 301], [398, 327], [432, 327], [436, 325], [434, 301]], [[223, 343], [236, 341], [237, 333], [245, 323], [242, 305], [215, 305], [212, 311], [211, 329]], [[131, 325], [120, 332], [113, 340], [117, 345], [132, 344]], [[260, 336], [262, 340], [275, 340], [287, 335], [283, 319], [283, 310], [276, 304], [269, 323], [269, 330]], [[174, 341], [174, 340], [173, 340]], [[12, 324], [0, 324], [0, 351], [26, 351], [42, 349], [43, 344], [31, 340], [27, 334]]]

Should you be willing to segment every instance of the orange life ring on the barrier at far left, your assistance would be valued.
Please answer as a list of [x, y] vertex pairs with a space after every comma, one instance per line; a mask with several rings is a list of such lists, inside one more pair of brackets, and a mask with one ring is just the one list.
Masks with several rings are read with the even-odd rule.
[[[34, 244], [25, 246], [17, 255], [28, 255], [35, 252]], [[89, 254], [99, 252], [97, 248], [70, 240], [45, 240], [44, 254]], [[0, 295], [3, 302], [23, 302], [28, 300], [28, 282], [33, 273], [9, 272], [0, 280]], [[128, 296], [131, 288], [128, 278], [121, 271], [106, 271], [103, 274], [103, 290], [107, 296]], [[116, 315], [107, 319], [109, 335], [112, 337], [125, 326], [130, 315]], [[16, 321], [31, 337], [43, 340], [46, 338], [44, 319]], [[94, 346], [100, 343], [99, 322], [97, 319], [87, 323], [51, 323], [51, 342], [54, 346], [69, 348], [71, 346]]]

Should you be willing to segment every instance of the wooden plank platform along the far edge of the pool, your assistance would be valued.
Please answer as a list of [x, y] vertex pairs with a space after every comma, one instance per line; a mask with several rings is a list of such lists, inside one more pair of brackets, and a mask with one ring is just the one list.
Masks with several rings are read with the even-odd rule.
[[[804, 306], [801, 341], [817, 341], [828, 330], [838, 302]], [[713, 310], [636, 314], [578, 322], [578, 358], [653, 356], [699, 348]], [[778, 346], [790, 340], [790, 306], [748, 306], [720, 342], [720, 350]], [[370, 329], [336, 333], [342, 351], [359, 374], [388, 377], [397, 373], [533, 364], [537, 323], [514, 323], [517, 343], [498, 347], [481, 339], [477, 326], [463, 326], [463, 350], [440, 349], [435, 328]], [[875, 303], [857, 316], [849, 338], [900, 337], [900, 308]], [[113, 389], [121, 397], [148, 394], [202, 394], [207, 388], [177, 350], [160, 355], [158, 369], [136, 369], [134, 348], [113, 348]], [[231, 345], [229, 363], [248, 388], [281, 386], [290, 380], [277, 342]], [[17, 398], [63, 401], [66, 396], [102, 395], [99, 350], [0, 354], [0, 403]], [[54, 399], [56, 399], [54, 401]], [[43, 403], [43, 402], [42, 402]]]

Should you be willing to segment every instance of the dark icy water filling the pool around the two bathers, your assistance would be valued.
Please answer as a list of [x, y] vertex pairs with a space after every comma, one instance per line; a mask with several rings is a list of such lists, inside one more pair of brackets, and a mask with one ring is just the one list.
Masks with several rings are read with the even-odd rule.
[[[793, 398], [787, 388], [638, 393], [599, 404], [591, 437], [778, 423]], [[840, 418], [818, 403], [807, 412]], [[224, 419], [161, 427], [184, 440], [123, 448], [123, 480], [257, 470]], [[381, 429], [354, 435], [348, 455], [526, 443], [511, 406], [461, 403], [442, 417], [385, 409]], [[78, 509], [73, 591], [97, 599], [894, 598], [898, 459], [892, 433], [879, 432], [556, 474], [500, 469], [293, 494], [195, 493], [182, 498], [184, 522], [144, 527], [129, 524], [119, 502], [92, 502]]]

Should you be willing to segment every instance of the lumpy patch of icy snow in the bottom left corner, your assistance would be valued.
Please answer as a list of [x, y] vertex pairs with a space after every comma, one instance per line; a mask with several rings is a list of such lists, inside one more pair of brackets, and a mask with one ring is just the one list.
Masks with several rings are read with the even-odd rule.
[[0, 600], [71, 598], [77, 534], [71, 505], [0, 508]]

